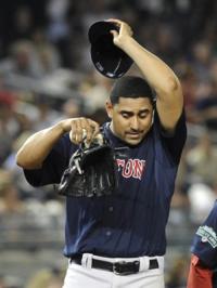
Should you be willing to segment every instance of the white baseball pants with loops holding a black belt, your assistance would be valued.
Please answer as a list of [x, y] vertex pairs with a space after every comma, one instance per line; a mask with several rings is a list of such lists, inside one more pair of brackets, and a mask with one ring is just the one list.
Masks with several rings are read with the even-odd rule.
[[[158, 269], [149, 270], [149, 257], [141, 258], [104, 258], [89, 253], [82, 256], [82, 265], [68, 263], [63, 288], [164, 288], [164, 257], [155, 257]], [[130, 275], [117, 275], [110, 271], [92, 269], [91, 260], [108, 262], [140, 261], [140, 271]]]

